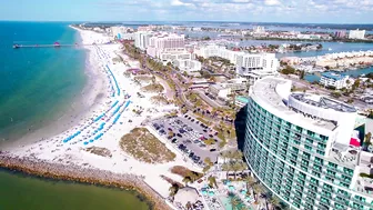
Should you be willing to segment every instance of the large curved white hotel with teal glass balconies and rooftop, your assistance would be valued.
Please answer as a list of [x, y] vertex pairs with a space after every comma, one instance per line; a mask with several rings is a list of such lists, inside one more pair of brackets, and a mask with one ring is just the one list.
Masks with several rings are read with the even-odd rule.
[[351, 143], [356, 110], [291, 86], [269, 77], [251, 87], [250, 169], [292, 209], [373, 210], [373, 154]]

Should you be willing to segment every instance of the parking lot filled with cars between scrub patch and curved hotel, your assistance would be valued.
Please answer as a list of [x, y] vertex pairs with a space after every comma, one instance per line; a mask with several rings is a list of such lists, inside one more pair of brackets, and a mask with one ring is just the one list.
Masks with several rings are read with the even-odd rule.
[[[195, 118], [188, 114], [168, 117], [152, 121], [151, 126], [181, 151], [184, 158], [191, 159], [194, 163], [203, 167], [205, 158], [210, 158], [213, 162], [216, 161], [220, 142], [216, 137], [218, 132]], [[214, 143], [206, 144], [205, 141], [209, 139]]]

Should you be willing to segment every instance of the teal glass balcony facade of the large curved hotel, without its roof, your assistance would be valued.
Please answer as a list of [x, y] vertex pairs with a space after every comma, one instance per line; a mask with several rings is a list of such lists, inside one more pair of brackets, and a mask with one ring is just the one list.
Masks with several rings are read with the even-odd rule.
[[349, 188], [353, 168], [325, 158], [329, 137], [248, 103], [244, 156], [255, 176], [295, 209], [364, 209], [373, 204]]

